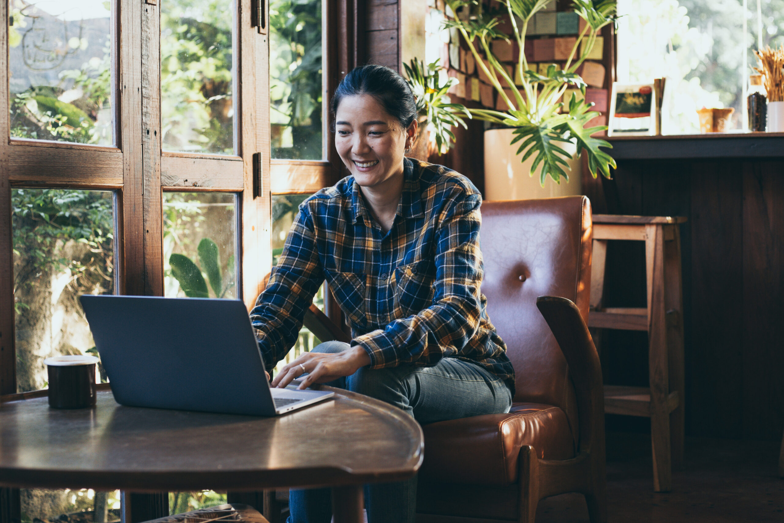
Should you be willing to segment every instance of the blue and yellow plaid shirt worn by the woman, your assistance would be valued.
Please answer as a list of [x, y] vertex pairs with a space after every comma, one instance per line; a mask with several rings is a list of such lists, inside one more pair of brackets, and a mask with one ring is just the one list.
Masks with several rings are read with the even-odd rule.
[[372, 369], [459, 358], [514, 390], [506, 345], [480, 290], [481, 194], [441, 165], [404, 162], [401, 202], [387, 234], [372, 220], [352, 176], [300, 205], [251, 311], [267, 369], [296, 343], [326, 279], [350, 322], [351, 344], [367, 350]]

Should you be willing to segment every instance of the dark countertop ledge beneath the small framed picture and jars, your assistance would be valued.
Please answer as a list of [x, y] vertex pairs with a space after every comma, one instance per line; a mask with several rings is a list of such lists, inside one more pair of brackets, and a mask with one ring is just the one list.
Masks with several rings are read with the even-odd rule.
[[615, 160], [784, 158], [784, 133], [609, 136]]

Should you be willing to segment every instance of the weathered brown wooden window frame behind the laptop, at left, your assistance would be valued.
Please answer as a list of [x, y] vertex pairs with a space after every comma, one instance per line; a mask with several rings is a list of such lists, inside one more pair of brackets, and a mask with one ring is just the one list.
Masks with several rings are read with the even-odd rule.
[[[234, 30], [236, 155], [162, 151], [160, 5], [115, 0], [114, 147], [11, 139], [8, 111], [0, 111], [0, 395], [16, 393], [13, 231], [15, 187], [114, 191], [116, 292], [163, 295], [165, 191], [238, 194], [238, 273], [241, 299], [251, 307], [271, 266], [269, 56], [267, 35], [253, 27], [252, 0], [238, 0]], [[8, 17], [8, 2], [0, 16]], [[124, 52], [128, 49], [127, 52]], [[8, 104], [8, 26], [0, 24], [0, 100]], [[261, 154], [254, 173], [253, 154]], [[254, 180], [258, 176], [260, 180]], [[256, 183], [254, 183], [256, 181]], [[256, 189], [254, 194], [254, 188]], [[269, 261], [267, 261], [269, 260]], [[0, 401], [2, 401], [0, 396]], [[10, 398], [6, 398], [10, 399]]]

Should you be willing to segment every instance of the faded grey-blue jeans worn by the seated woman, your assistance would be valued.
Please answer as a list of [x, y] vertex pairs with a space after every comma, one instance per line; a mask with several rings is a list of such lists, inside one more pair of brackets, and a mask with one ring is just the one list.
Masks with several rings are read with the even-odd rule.
[[[313, 352], [336, 353], [347, 348], [348, 343], [328, 341], [314, 347]], [[363, 367], [327, 384], [387, 401], [419, 423], [509, 412], [512, 405], [506, 383], [479, 365], [456, 358], [443, 358], [433, 367]], [[365, 507], [368, 523], [414, 523], [416, 476], [408, 481], [365, 485]], [[289, 510], [288, 523], [329, 523], [330, 490], [292, 490]]]

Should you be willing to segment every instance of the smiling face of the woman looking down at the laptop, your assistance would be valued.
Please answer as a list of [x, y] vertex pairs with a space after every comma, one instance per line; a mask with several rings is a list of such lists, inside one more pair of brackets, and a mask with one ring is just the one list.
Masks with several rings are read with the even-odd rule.
[[343, 98], [335, 114], [335, 147], [360, 187], [382, 189], [403, 173], [403, 156], [416, 136], [416, 120], [402, 129], [369, 95]]

